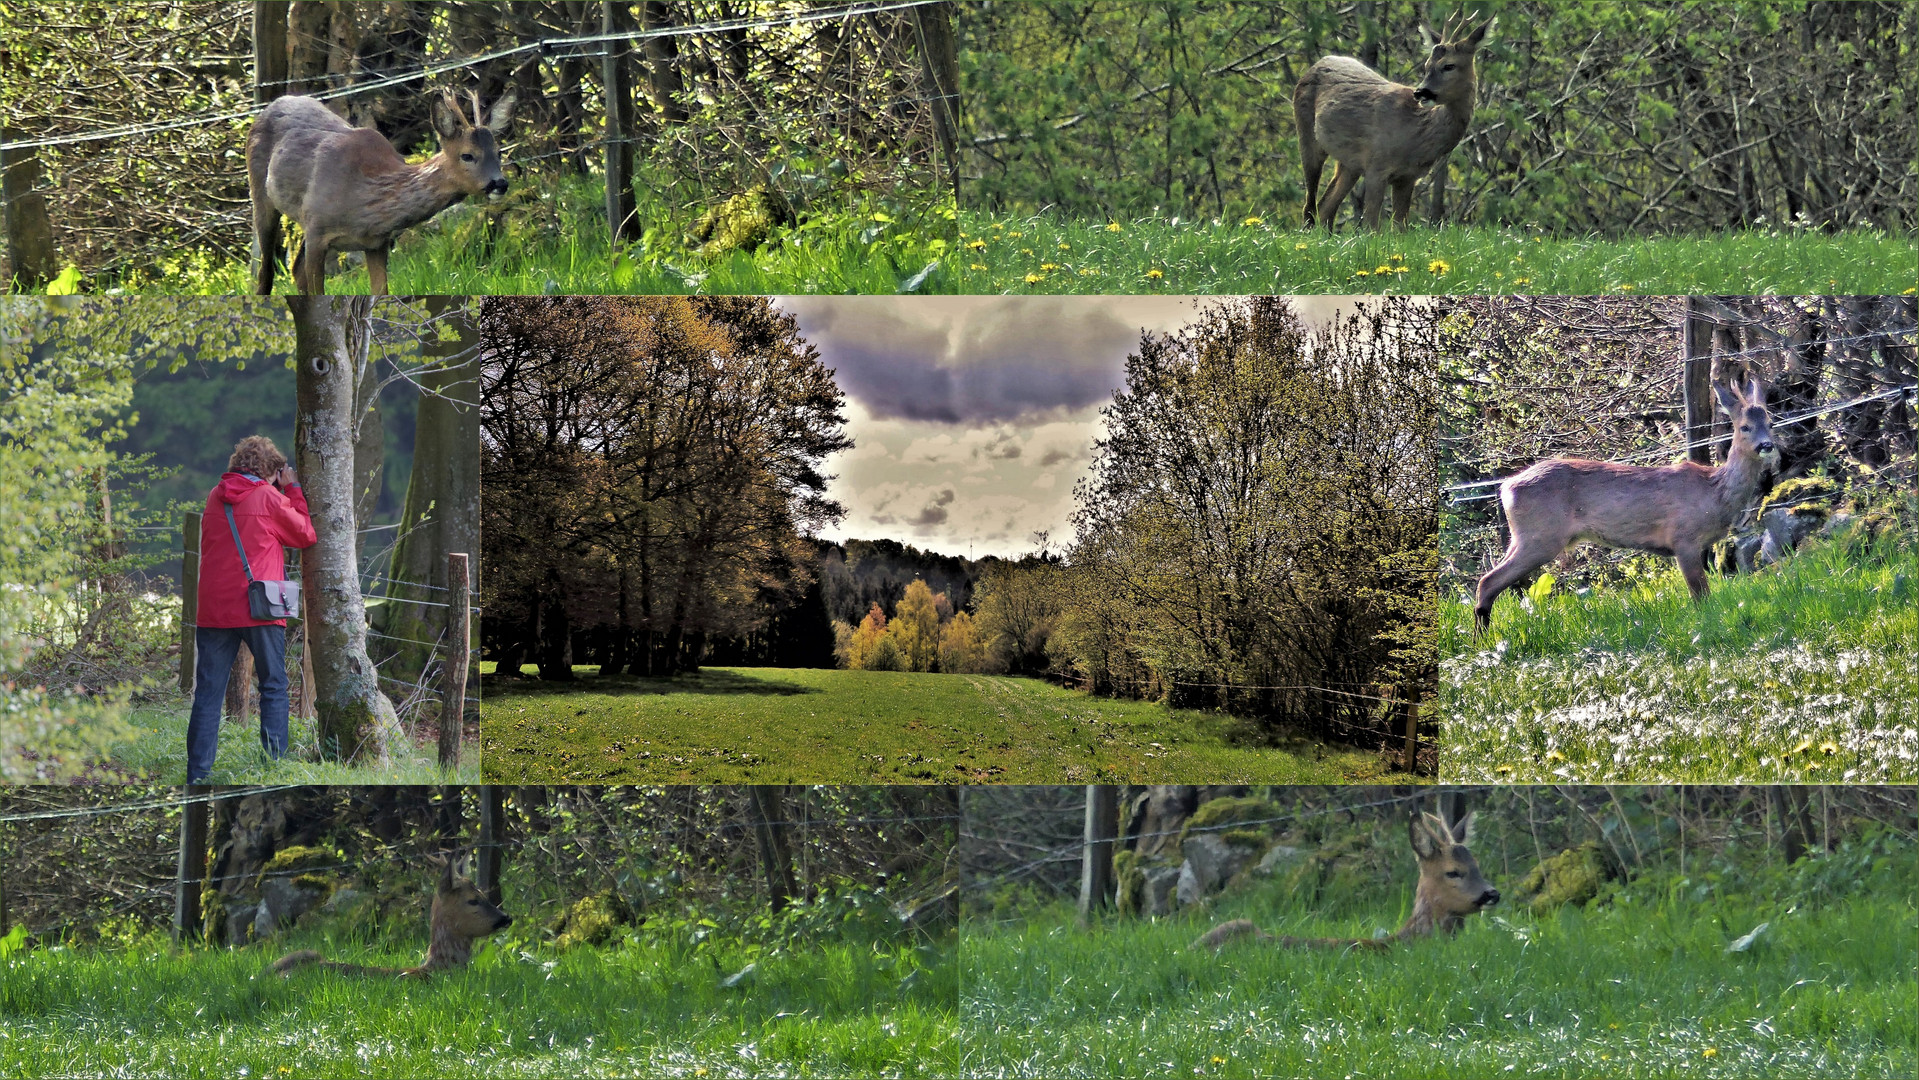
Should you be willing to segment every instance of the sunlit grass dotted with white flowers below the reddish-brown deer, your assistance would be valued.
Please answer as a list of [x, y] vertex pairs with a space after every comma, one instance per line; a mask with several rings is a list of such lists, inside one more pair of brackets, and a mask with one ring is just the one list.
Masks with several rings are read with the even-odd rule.
[[[1652, 566], [1647, 562], [1645, 566]], [[1712, 579], [1441, 602], [1449, 783], [1913, 783], [1919, 549], [1815, 543]]]

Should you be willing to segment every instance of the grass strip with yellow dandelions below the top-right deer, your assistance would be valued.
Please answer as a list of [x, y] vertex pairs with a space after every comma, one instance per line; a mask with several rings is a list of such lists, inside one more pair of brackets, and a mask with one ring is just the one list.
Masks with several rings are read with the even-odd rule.
[[1852, 230], [1600, 240], [1524, 228], [1311, 232], [1270, 219], [960, 215], [969, 293], [1900, 293], [1909, 236]]

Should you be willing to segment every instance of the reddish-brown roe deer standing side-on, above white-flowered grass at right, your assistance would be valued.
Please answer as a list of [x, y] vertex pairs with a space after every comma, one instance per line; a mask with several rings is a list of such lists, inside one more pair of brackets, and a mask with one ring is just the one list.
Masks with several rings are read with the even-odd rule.
[[1733, 418], [1733, 447], [1718, 468], [1691, 460], [1637, 466], [1552, 458], [1499, 485], [1512, 543], [1499, 566], [1480, 577], [1474, 622], [1481, 633], [1493, 622], [1499, 593], [1581, 541], [1670, 554], [1693, 600], [1706, 599], [1706, 549], [1739, 522], [1765, 476], [1764, 458], [1773, 453], [1760, 380], [1748, 380], [1744, 389], [1718, 384], [1712, 389]]

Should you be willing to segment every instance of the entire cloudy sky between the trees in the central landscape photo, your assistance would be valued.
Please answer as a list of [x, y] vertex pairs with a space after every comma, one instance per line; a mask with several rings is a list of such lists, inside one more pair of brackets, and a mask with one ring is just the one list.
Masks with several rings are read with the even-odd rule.
[[[846, 391], [854, 449], [835, 455], [831, 539], [890, 537], [942, 554], [1015, 556], [1071, 535], [1073, 483], [1142, 330], [1203, 297], [779, 297]], [[1307, 318], [1345, 297], [1301, 297]]]

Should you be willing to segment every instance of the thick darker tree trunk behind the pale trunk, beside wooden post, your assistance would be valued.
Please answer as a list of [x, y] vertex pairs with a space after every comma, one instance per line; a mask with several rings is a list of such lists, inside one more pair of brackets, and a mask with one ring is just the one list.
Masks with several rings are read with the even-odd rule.
[[[418, 420], [413, 428], [413, 472], [407, 478], [407, 506], [399, 518], [399, 541], [393, 545], [390, 602], [382, 629], [395, 648], [391, 673], [395, 679], [426, 677], [428, 646], [420, 641], [439, 641], [445, 627], [447, 552], [462, 551], [472, 581], [480, 579], [480, 336], [466, 318], [459, 297], [432, 295], [422, 301], [434, 322], [445, 320], [455, 340], [428, 334], [420, 355], [432, 370], [418, 376]], [[455, 305], [459, 305], [455, 309]], [[451, 648], [451, 641], [441, 646]]]

